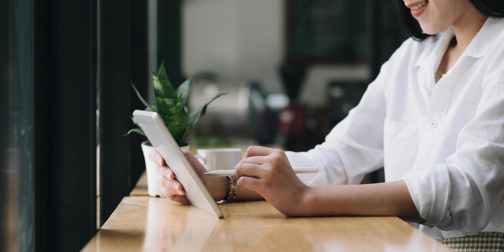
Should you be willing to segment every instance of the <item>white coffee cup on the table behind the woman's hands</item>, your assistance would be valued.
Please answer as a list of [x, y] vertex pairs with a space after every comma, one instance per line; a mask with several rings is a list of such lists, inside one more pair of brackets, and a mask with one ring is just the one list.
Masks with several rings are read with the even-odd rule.
[[196, 158], [207, 171], [232, 170], [243, 158], [239, 148], [198, 149], [197, 153]]

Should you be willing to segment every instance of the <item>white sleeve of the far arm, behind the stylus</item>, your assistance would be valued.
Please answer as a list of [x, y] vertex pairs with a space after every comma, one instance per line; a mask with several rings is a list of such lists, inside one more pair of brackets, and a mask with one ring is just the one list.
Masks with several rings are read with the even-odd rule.
[[333, 128], [324, 143], [307, 152], [286, 152], [292, 167], [319, 168], [316, 174], [299, 174], [301, 181], [312, 186], [358, 184], [366, 173], [383, 167], [385, 93], [382, 84], [389, 64], [384, 64], [359, 104]]

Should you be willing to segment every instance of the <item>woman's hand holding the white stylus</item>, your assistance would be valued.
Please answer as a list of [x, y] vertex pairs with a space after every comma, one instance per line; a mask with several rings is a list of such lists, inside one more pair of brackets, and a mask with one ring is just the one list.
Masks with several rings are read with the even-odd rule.
[[296, 176], [285, 152], [250, 146], [236, 165], [233, 184], [264, 197], [285, 216], [305, 216], [305, 197], [310, 186]]

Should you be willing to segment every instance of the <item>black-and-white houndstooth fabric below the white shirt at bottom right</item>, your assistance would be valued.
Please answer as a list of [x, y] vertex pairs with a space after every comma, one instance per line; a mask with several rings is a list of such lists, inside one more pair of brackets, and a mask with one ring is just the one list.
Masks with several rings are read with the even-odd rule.
[[477, 234], [446, 238], [439, 242], [456, 252], [504, 252], [504, 233]]

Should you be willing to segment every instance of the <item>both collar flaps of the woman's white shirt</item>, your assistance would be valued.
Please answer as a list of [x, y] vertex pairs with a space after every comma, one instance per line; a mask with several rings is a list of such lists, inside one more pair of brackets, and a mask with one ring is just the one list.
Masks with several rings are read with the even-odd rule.
[[[495, 42], [495, 39], [504, 30], [504, 22], [496, 19], [488, 18], [476, 36], [471, 40], [467, 48], [462, 53], [462, 56], [483, 57], [486, 55], [490, 47]], [[433, 64], [435, 60], [441, 57], [448, 48], [450, 41], [454, 35], [453, 27], [450, 26], [443, 32], [435, 35], [432, 39], [433, 45], [425, 48], [418, 57], [415, 66], [421, 67], [425, 64]], [[429, 39], [429, 38], [427, 38]]]

